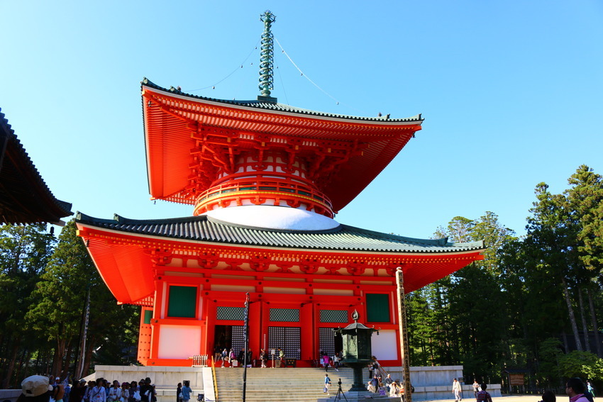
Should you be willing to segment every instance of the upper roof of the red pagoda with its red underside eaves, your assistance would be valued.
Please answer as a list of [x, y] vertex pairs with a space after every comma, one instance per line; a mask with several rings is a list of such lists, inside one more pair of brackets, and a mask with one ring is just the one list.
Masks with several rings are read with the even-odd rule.
[[[423, 118], [343, 116], [294, 108], [270, 101], [232, 101], [142, 84], [149, 192], [153, 199], [196, 203], [199, 149], [205, 135], [220, 161], [245, 147], [291, 148], [316, 158], [338, 159], [316, 186], [340, 211], [360, 194], [421, 130]], [[216, 145], [218, 144], [218, 145]], [[221, 145], [220, 145], [221, 144]], [[197, 153], [196, 153], [197, 152]], [[207, 176], [206, 182], [218, 177]]]

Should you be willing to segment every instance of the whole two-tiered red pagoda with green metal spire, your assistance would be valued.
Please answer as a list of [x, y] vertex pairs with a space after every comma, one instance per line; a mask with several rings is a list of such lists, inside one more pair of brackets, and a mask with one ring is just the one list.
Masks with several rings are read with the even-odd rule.
[[167, 220], [77, 215], [118, 303], [141, 306], [138, 360], [190, 366], [217, 347], [281, 347], [298, 366], [341, 350], [333, 328], [360, 312], [380, 328], [373, 354], [399, 365], [394, 272], [414, 291], [481, 259], [483, 242], [422, 240], [343, 225], [335, 213], [421, 129], [394, 119], [320, 113], [277, 103], [274, 16], [262, 14], [261, 95], [226, 101], [142, 82], [152, 199], [192, 205]]

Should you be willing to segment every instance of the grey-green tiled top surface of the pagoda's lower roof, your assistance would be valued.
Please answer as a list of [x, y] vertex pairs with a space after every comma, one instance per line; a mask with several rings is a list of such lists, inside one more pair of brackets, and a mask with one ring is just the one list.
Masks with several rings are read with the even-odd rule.
[[475, 252], [485, 248], [483, 241], [455, 243], [448, 242], [447, 238], [406, 238], [348, 225], [339, 225], [331, 230], [294, 231], [233, 225], [208, 216], [135, 220], [115, 215], [114, 219], [99, 219], [80, 212], [76, 221], [82, 225], [123, 233], [257, 247], [430, 254]]

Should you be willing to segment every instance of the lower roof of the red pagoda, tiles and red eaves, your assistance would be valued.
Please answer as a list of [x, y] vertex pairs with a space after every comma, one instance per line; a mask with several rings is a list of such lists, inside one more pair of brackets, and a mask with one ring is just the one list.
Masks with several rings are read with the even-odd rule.
[[[404, 291], [409, 293], [482, 259], [485, 249], [482, 241], [406, 238], [341, 224], [328, 230], [255, 228], [205, 215], [137, 220], [118, 215], [100, 219], [78, 212], [75, 222], [118, 303], [140, 306], [153, 306], [155, 269], [168, 269], [172, 257], [194, 259], [196, 267], [182, 269], [210, 276], [255, 271], [282, 280], [308, 275], [327, 280], [387, 278], [391, 286], [396, 268], [402, 267]], [[223, 259], [229, 261], [227, 267], [218, 267]], [[287, 268], [295, 264], [301, 272]]]

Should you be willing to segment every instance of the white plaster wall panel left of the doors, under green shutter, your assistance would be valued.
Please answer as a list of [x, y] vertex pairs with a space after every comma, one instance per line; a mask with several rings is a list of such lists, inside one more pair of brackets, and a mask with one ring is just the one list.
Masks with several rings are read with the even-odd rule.
[[161, 325], [159, 359], [187, 359], [201, 353], [201, 328]]

